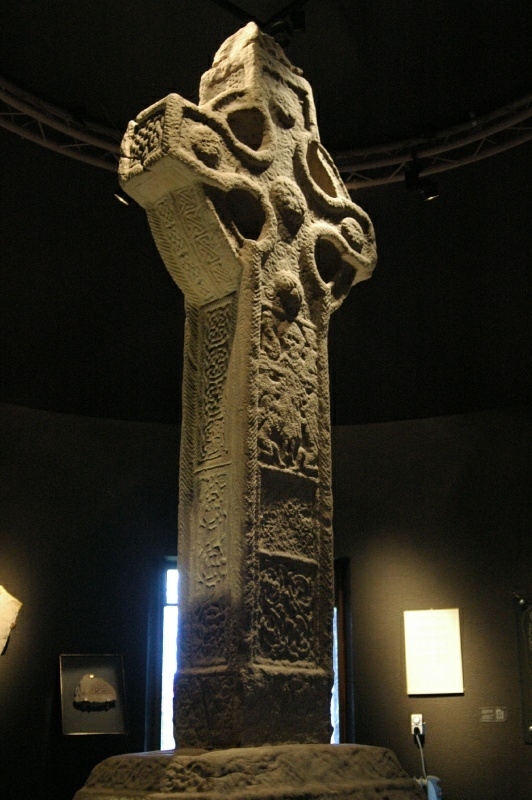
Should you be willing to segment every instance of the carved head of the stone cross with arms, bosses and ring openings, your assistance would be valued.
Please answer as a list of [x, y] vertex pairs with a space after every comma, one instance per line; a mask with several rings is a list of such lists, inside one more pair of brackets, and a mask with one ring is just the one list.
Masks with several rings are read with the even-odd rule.
[[120, 177], [189, 305], [237, 291], [258, 260], [290, 322], [316, 302], [335, 310], [375, 266], [372, 224], [320, 142], [310, 85], [254, 23], [219, 49], [198, 105], [172, 94], [130, 123]]

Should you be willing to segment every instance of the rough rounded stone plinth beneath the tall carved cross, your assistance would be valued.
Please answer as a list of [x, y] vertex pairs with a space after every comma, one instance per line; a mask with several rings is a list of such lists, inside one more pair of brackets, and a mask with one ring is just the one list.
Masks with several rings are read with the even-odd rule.
[[280, 745], [115, 756], [74, 800], [420, 800], [394, 754], [360, 745]]

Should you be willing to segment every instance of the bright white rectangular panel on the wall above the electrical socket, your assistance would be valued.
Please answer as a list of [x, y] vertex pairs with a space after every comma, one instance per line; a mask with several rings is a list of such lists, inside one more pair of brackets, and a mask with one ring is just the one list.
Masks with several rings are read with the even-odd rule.
[[405, 611], [407, 694], [462, 694], [457, 608]]

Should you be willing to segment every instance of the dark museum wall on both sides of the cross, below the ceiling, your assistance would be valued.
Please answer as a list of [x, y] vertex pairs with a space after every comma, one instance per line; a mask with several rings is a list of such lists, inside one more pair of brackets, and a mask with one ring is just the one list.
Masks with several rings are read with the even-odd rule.
[[[523, 412], [334, 429], [336, 555], [351, 564], [356, 741], [421, 772], [427, 723], [446, 800], [529, 800], [512, 592], [532, 594]], [[148, 609], [175, 548], [177, 426], [0, 405], [0, 583], [24, 606], [0, 657], [2, 800], [71, 800], [144, 749]], [[526, 517], [526, 520], [525, 520]], [[458, 607], [465, 693], [406, 695], [402, 612]], [[63, 736], [60, 653], [121, 653], [127, 736]], [[503, 724], [480, 722], [504, 706]]]

